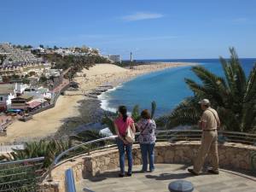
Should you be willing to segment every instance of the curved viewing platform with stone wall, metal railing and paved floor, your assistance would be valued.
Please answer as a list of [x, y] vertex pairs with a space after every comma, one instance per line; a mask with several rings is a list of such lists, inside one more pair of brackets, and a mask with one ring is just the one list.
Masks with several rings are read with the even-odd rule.
[[[116, 136], [105, 137], [69, 148], [56, 157], [55, 166], [51, 166], [53, 169], [49, 169], [49, 177], [41, 187], [47, 192], [68, 191], [65, 175], [67, 170], [71, 170], [76, 191], [161, 192], [168, 191], [168, 184], [180, 179], [193, 183], [195, 192], [256, 191], [256, 146], [253, 145], [256, 135], [230, 131], [219, 131], [219, 134], [225, 138], [223, 141], [219, 138], [218, 143], [219, 175], [207, 172], [209, 160], [206, 160], [200, 176], [193, 176], [187, 171], [201, 146], [201, 131], [169, 130], [156, 132], [154, 172], [140, 172], [141, 150], [135, 143], [132, 147], [133, 174], [131, 177], [119, 177]], [[63, 160], [63, 157], [66, 158]]]

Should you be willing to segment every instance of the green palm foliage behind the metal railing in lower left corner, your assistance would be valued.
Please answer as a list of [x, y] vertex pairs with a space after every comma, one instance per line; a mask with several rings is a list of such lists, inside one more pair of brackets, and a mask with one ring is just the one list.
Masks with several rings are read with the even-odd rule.
[[[9, 156], [3, 154], [0, 155], [0, 160], [8, 161], [44, 157], [43, 165], [36, 163], [29, 164], [29, 166], [2, 166], [1, 168], [3, 170], [0, 172], [0, 183], [3, 184], [1, 184], [1, 189], [4, 189], [4, 191], [36, 191], [34, 188], [38, 188], [38, 179], [40, 179], [38, 176], [41, 176], [42, 174], [38, 171], [40, 171], [42, 168], [44, 168], [43, 171], [46, 171], [45, 168], [49, 167], [49, 165], [55, 160], [55, 157], [70, 147], [70, 140], [40, 140], [39, 142], [35, 141], [31, 143], [25, 143], [24, 149], [13, 149], [14, 152], [11, 152]], [[17, 190], [9, 189], [8, 183], [10, 181], [20, 181], [12, 183], [12, 188]]]

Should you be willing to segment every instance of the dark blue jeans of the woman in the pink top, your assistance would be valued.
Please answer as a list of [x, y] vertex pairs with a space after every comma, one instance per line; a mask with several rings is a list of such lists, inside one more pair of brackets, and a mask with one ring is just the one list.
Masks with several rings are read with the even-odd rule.
[[125, 174], [125, 151], [128, 159], [128, 174], [131, 174], [132, 169], [132, 144], [125, 144], [121, 139], [116, 139], [119, 148], [119, 166], [121, 174]]

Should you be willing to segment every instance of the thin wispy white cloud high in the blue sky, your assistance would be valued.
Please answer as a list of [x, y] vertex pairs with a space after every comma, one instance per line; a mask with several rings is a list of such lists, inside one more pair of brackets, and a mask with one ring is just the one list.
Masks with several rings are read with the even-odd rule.
[[127, 21], [135, 21], [135, 20], [152, 20], [152, 19], [159, 19], [163, 17], [162, 14], [156, 14], [156, 13], [144, 13], [144, 12], [137, 12], [133, 15], [126, 15], [122, 17], [123, 20]]

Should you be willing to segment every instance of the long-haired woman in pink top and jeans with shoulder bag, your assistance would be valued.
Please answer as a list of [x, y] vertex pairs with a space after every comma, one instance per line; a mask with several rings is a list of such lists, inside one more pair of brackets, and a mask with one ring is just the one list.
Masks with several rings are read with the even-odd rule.
[[119, 106], [119, 117], [114, 120], [114, 127], [115, 131], [118, 135], [117, 138], [117, 145], [119, 148], [119, 166], [120, 166], [120, 173], [119, 177], [125, 176], [125, 151], [128, 158], [128, 172], [126, 176], [131, 177], [132, 171], [132, 143], [128, 143], [125, 140], [125, 136], [127, 133], [128, 128], [135, 133], [136, 129], [134, 126], [134, 121], [127, 115], [127, 109], [125, 106]]

